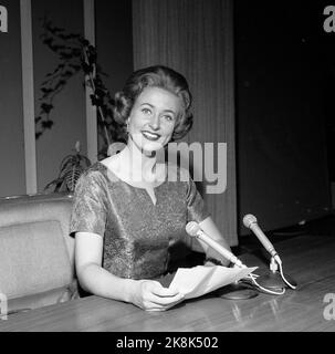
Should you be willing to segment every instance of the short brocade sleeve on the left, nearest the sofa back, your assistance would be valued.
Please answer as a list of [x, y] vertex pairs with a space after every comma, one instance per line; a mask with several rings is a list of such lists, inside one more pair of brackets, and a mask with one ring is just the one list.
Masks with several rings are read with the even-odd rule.
[[106, 207], [98, 171], [84, 173], [76, 183], [71, 214], [70, 235], [105, 233]]

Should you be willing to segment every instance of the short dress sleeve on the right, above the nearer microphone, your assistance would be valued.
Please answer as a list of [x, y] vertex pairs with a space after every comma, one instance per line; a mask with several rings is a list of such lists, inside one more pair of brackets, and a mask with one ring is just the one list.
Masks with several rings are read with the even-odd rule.
[[187, 221], [201, 222], [207, 217], [209, 217], [209, 212], [205, 206], [203, 199], [200, 196], [195, 181], [189, 177], [187, 190]]

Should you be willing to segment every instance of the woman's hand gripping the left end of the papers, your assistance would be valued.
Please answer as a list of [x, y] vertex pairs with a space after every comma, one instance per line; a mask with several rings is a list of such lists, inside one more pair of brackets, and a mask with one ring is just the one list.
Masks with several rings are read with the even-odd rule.
[[147, 311], [165, 311], [181, 302], [182, 293], [164, 288], [156, 280], [135, 280], [130, 302]]

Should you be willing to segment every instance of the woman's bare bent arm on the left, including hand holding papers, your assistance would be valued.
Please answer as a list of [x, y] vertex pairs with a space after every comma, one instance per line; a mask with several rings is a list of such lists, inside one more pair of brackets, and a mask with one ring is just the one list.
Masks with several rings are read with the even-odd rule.
[[102, 268], [103, 238], [91, 232], [76, 232], [75, 266], [81, 287], [87, 292], [130, 302], [144, 310], [163, 311], [174, 306], [184, 295], [163, 288], [157, 281], [116, 277]]

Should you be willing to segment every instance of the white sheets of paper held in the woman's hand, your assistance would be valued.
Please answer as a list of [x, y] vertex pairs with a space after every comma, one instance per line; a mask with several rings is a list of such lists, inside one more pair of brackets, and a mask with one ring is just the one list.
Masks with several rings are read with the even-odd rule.
[[179, 268], [169, 288], [178, 289], [186, 295], [185, 299], [198, 298], [245, 278], [257, 268], [227, 268], [222, 266]]

